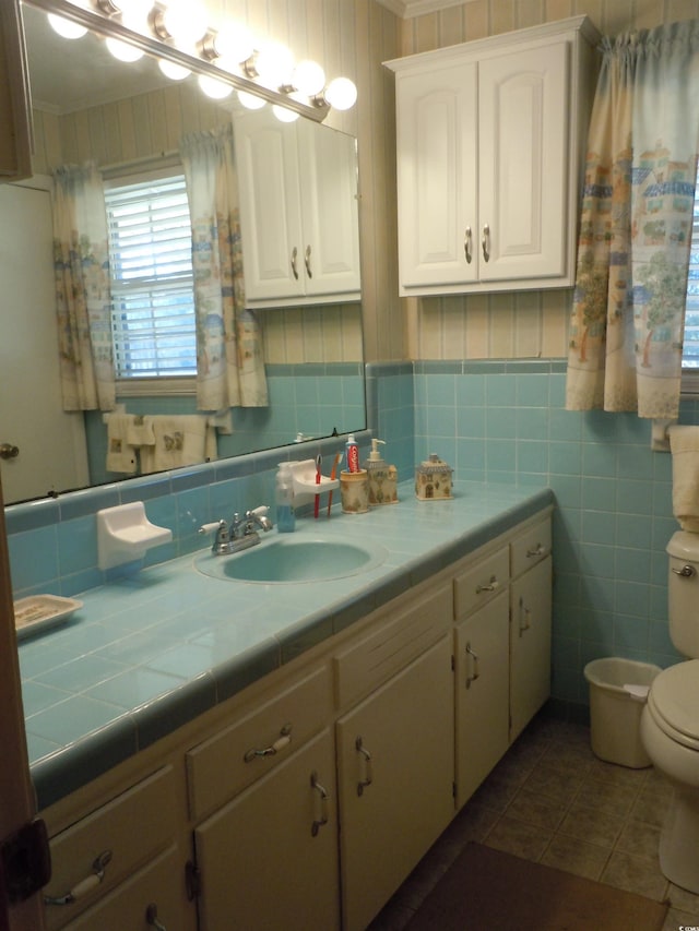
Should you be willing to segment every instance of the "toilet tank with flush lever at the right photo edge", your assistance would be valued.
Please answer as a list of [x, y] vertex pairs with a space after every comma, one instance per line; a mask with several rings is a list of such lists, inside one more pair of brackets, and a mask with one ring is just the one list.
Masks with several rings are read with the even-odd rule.
[[699, 534], [677, 530], [667, 544], [670, 638], [689, 659], [699, 659]]

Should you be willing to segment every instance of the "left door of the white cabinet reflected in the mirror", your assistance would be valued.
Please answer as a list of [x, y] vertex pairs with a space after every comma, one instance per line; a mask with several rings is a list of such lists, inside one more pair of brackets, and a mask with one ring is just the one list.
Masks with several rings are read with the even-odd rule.
[[234, 124], [245, 290], [249, 301], [304, 294], [296, 128], [246, 114]]

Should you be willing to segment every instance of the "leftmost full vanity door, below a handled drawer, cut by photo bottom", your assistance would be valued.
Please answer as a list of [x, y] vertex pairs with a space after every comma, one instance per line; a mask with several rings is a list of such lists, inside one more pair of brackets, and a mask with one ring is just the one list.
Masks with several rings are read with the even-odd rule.
[[325, 730], [196, 829], [202, 931], [339, 928], [334, 772]]

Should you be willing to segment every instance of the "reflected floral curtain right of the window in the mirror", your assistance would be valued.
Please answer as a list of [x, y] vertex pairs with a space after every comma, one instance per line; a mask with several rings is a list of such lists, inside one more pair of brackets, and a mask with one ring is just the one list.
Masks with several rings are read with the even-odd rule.
[[262, 337], [245, 307], [233, 127], [186, 136], [180, 155], [192, 224], [197, 406], [265, 407]]

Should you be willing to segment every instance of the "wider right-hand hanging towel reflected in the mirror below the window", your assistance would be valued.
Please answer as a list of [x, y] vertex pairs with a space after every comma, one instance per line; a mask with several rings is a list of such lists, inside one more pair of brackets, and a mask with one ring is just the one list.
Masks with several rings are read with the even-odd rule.
[[141, 446], [141, 472], [163, 472], [216, 457], [216, 431], [198, 414], [154, 416], [155, 444]]

